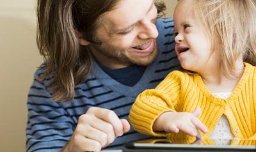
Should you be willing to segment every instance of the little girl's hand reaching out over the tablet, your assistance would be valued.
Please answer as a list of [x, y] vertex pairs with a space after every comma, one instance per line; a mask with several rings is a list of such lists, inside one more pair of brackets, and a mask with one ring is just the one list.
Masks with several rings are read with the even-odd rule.
[[198, 130], [204, 133], [208, 132], [207, 127], [202, 123], [198, 116], [201, 109], [198, 107], [193, 112], [164, 112], [155, 121], [153, 130], [155, 132], [178, 133], [180, 131], [187, 133], [197, 139], [202, 139]]

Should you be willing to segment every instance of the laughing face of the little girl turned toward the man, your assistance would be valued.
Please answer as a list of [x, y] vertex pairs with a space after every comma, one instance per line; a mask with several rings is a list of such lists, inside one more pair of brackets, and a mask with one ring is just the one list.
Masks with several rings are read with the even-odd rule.
[[201, 73], [220, 63], [220, 51], [211, 50], [211, 38], [191, 6], [193, 0], [185, 0], [175, 9], [175, 51], [182, 68]]

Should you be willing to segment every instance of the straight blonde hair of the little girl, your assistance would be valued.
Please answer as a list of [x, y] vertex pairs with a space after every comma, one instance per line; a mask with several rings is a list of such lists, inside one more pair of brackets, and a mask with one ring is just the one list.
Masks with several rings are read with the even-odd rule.
[[255, 0], [195, 0], [195, 15], [221, 47], [221, 70], [233, 77], [237, 59], [256, 66]]

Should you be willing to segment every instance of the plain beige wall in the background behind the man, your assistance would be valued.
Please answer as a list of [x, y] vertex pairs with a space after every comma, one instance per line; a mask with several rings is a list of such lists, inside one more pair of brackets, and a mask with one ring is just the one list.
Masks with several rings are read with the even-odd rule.
[[[0, 151], [25, 151], [26, 99], [36, 67], [36, 0], [0, 0]], [[166, 17], [176, 0], [165, 0]]]

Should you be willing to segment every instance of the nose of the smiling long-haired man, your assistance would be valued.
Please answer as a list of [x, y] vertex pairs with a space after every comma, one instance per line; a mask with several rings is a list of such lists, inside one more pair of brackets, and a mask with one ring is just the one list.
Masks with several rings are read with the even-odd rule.
[[141, 29], [138, 37], [141, 39], [148, 39], [148, 38], [157, 38], [158, 31], [156, 25], [150, 20], [143, 20], [141, 22]]

